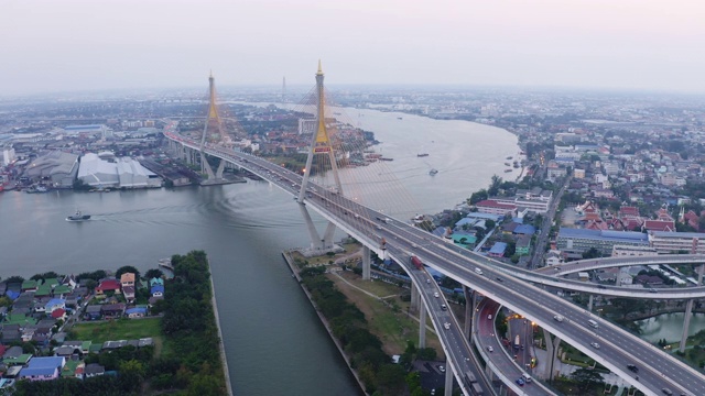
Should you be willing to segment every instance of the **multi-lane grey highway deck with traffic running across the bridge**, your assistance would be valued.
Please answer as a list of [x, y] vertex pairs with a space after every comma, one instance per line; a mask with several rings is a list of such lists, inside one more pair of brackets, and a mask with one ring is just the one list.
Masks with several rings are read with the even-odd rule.
[[[170, 139], [175, 139], [192, 148], [198, 148], [195, 142], [185, 141], [181, 136], [172, 135]], [[294, 196], [301, 188], [302, 177], [300, 175], [265, 160], [223, 147], [206, 147], [206, 152], [209, 155], [232, 162]], [[513, 311], [520, 312], [551, 333], [560, 336], [561, 339], [600, 362], [647, 395], [661, 394], [663, 388], [668, 388], [676, 395], [705, 395], [705, 376], [701, 372], [583, 308], [520, 278], [536, 276], [543, 279], [543, 277], [551, 278], [551, 276], [530, 272], [527, 273], [531, 275], [523, 274], [516, 267], [507, 266], [470, 251], [459, 252], [442, 239], [405, 222], [394, 219], [386, 220], [386, 215], [321, 186], [312, 184], [307, 188], [305, 201], [310, 208], [370, 246], [378, 255], [381, 253], [379, 241], [384, 238], [389, 256], [412, 275], [419, 287], [423, 287], [422, 284], [425, 283], [425, 279], [421, 274], [414, 274], [414, 272], [419, 272], [411, 266], [408, 260], [412, 253], [426, 265]], [[549, 280], [542, 282], [549, 283]], [[555, 278], [551, 282], [555, 282]], [[597, 287], [588, 287], [588, 292], [595, 294], [603, 294], [601, 292], [605, 290]], [[455, 319], [452, 316], [446, 317], [440, 308], [440, 299], [436, 300], [432, 295], [429, 295], [431, 289], [423, 288], [422, 290], [424, 301], [430, 307], [429, 311], [434, 326], [438, 329], [440, 334], [447, 336], [441, 337], [444, 350], [449, 359], [449, 364], [454, 367], [456, 380], [463, 384], [462, 373], [473, 369], [471, 359], [474, 358], [469, 353], [469, 346], [465, 346], [467, 342], [463, 340]], [[644, 295], [653, 297], [648, 293]], [[556, 314], [562, 315], [566, 320], [555, 321], [553, 317]], [[453, 331], [446, 333], [442, 329], [444, 320], [448, 318], [452, 319], [449, 323], [452, 323]], [[595, 320], [598, 328], [590, 327], [588, 320]], [[598, 343], [599, 348], [595, 348], [594, 343]], [[636, 364], [639, 367], [639, 380], [627, 369], [628, 364]], [[464, 392], [469, 394], [465, 388]]]

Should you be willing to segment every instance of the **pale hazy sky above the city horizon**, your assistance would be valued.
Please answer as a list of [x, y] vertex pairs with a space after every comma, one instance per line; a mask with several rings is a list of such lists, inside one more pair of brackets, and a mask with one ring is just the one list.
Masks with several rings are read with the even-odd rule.
[[0, 96], [326, 82], [705, 92], [702, 0], [0, 0]]

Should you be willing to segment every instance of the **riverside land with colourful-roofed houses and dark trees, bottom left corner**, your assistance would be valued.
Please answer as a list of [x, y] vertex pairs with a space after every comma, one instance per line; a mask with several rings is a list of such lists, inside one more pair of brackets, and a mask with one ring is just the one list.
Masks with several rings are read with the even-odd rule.
[[206, 254], [171, 266], [1, 282], [0, 392], [227, 395]]

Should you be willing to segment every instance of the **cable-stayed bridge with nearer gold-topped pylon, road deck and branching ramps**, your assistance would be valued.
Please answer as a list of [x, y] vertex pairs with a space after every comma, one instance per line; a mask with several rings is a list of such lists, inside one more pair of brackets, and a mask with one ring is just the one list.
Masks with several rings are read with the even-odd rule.
[[[412, 256], [460, 282], [466, 288], [466, 296], [469, 297], [468, 290], [471, 289], [477, 295], [523, 315], [551, 334], [579, 349], [647, 395], [658, 395], [663, 393], [663, 389], [669, 389], [676, 395], [705, 395], [705, 376], [702, 373], [589, 310], [558, 298], [546, 292], [544, 287], [579, 290], [590, 295], [654, 298], [651, 292], [599, 287], [558, 279], [554, 276], [555, 274], [521, 271], [468, 250], [458, 249], [442, 238], [409, 224], [405, 220], [393, 219], [389, 213], [362, 205], [357, 197], [350, 198], [344, 194], [345, 184], [337, 176], [336, 167], [340, 157], [337, 156], [336, 144], [327, 131], [321, 67], [316, 74], [316, 92], [318, 101], [315, 131], [313, 131], [303, 176], [231, 146], [182, 136], [176, 132], [176, 122], [170, 123], [164, 134], [173, 147], [183, 152], [186, 158], [200, 157], [202, 161], [205, 161], [206, 156], [219, 158], [221, 164], [230, 163], [247, 169], [294, 196], [311, 235], [311, 249], [321, 252], [330, 249], [336, 229], [356, 238], [365, 245], [362, 271], [365, 278], [370, 277], [370, 252], [398, 262], [412, 279], [412, 304], [420, 312], [420, 346], [425, 345], [424, 324], [426, 315], [430, 315], [447, 356], [447, 395], [452, 388], [453, 377], [457, 380], [466, 395], [494, 394], [489, 380], [495, 375], [519, 394], [545, 395], [553, 392], [536, 383], [519, 387], [514, 377], [505, 375], [491, 362], [487, 364], [487, 371], [482, 370], [484, 365], [477, 361], [468, 342], [471, 331], [469, 318], [474, 310], [474, 306], [469, 304], [471, 298], [467, 298], [466, 318], [468, 319], [460, 327], [447, 309], [447, 302], [438, 286], [435, 282], [431, 282], [423, 267], [420, 270], [412, 264]], [[313, 164], [322, 163], [319, 157], [328, 161], [330, 165], [328, 172], [335, 173], [332, 186], [317, 184], [311, 179], [315, 168]], [[214, 175], [213, 172], [208, 174]], [[314, 227], [308, 213], [310, 209], [328, 221], [323, 235]], [[679, 261], [672, 257], [669, 260]], [[705, 256], [702, 255], [680, 257], [680, 260], [681, 263], [705, 263]], [[701, 286], [658, 293], [659, 299], [692, 301], [694, 298], [702, 297], [705, 297], [705, 287]], [[556, 320], [556, 316], [562, 320]], [[628, 365], [640, 369], [638, 376], [634, 376]], [[496, 369], [495, 373], [491, 372], [492, 367]]]

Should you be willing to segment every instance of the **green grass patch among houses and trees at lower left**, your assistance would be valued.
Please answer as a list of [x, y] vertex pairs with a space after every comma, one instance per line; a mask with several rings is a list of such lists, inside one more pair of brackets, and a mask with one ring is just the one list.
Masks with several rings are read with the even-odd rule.
[[160, 327], [160, 318], [119, 319], [102, 322], [76, 323], [72, 328], [76, 339], [102, 343], [106, 341], [137, 340], [151, 337], [154, 339], [158, 355], [163, 348], [164, 338]]

